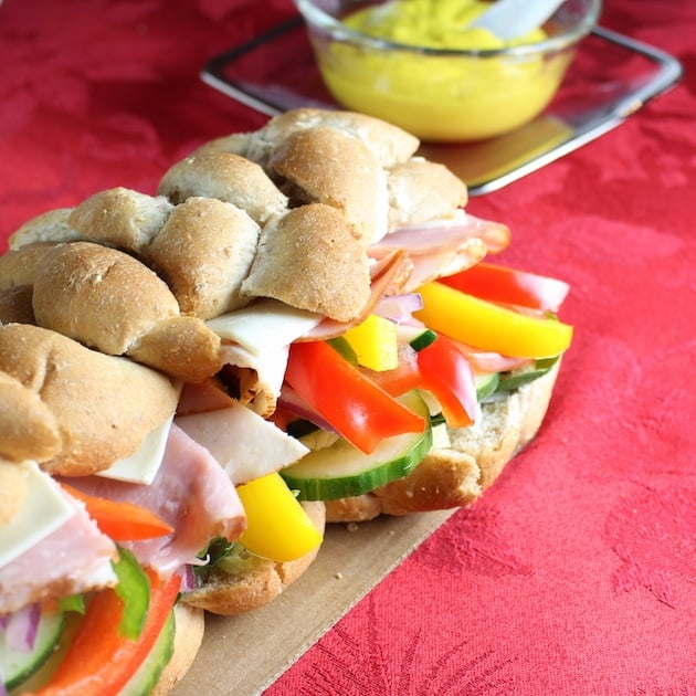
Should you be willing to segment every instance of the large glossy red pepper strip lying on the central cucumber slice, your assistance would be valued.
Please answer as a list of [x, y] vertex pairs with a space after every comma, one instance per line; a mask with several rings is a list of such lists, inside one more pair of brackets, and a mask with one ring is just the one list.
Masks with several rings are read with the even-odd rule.
[[366, 454], [384, 437], [425, 430], [423, 418], [324, 341], [293, 344], [285, 380], [336, 432]]

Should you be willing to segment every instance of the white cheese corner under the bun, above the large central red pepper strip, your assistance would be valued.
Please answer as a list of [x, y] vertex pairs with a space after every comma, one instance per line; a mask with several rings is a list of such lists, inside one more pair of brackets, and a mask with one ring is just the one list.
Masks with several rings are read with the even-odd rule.
[[263, 298], [205, 324], [223, 340], [234, 341], [250, 352], [261, 355], [268, 348], [289, 346], [323, 320], [319, 314]]

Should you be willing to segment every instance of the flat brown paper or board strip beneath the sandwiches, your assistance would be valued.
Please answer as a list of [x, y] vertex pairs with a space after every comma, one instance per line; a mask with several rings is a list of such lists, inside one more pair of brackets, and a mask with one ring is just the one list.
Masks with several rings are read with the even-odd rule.
[[453, 512], [328, 525], [314, 563], [271, 604], [207, 615], [203, 645], [171, 694], [261, 694]]

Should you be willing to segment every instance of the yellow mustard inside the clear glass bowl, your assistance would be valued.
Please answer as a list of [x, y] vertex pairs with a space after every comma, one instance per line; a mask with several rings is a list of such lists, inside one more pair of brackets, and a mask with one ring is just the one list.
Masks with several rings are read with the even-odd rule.
[[[390, 0], [342, 22], [376, 39], [407, 46], [486, 51], [506, 44], [467, 25], [489, 3], [482, 0]], [[515, 43], [547, 36], [536, 29]], [[378, 116], [423, 140], [479, 140], [531, 120], [549, 103], [570, 61], [562, 53], [503, 56], [432, 55], [371, 49], [348, 38], [317, 48], [319, 70], [345, 107]]]

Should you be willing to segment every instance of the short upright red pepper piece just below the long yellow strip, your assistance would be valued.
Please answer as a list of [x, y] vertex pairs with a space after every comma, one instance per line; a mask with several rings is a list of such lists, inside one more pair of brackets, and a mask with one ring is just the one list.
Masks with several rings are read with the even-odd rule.
[[435, 397], [450, 428], [467, 428], [478, 411], [474, 370], [453, 341], [437, 338], [418, 352], [422, 387]]

